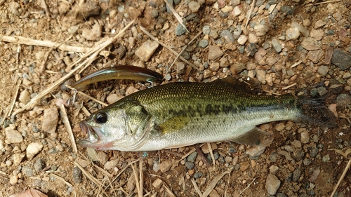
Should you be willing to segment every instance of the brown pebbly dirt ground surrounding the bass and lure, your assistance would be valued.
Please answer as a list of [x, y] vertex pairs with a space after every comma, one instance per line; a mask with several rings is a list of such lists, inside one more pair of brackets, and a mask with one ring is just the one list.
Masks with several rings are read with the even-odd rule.
[[[351, 69], [336, 65], [331, 55], [337, 49], [351, 52], [351, 1], [321, 2], [255, 1], [245, 28], [253, 3], [250, 0], [175, 1], [173, 6], [189, 31], [182, 33], [175, 15], [161, 0], [0, 1], [0, 196], [26, 189], [48, 196], [330, 196], [350, 159], [338, 152], [351, 147]], [[195, 146], [149, 153], [93, 151], [78, 146], [75, 152], [64, 114], [55, 104], [72, 93], [60, 86], [35, 107], [12, 115], [71, 72], [75, 67], [69, 64], [86, 52], [79, 50], [113, 37], [132, 20], [131, 27], [103, 49], [108, 53], [100, 53], [84, 72], [69, 78], [74, 80], [102, 67], [131, 64], [159, 72], [165, 78], [163, 83], [249, 75], [262, 83], [264, 94], [292, 93], [326, 81], [335, 85], [330, 88], [327, 104], [338, 115], [338, 126], [319, 128], [291, 121], [259, 125], [274, 133], [274, 141], [263, 154], [250, 156], [249, 151], [256, 150], [240, 144], [211, 143], [213, 166], [207, 144], [200, 148], [200, 154], [204, 152], [208, 164], [193, 150]], [[310, 35], [299, 33], [289, 40], [289, 30], [296, 30], [291, 27], [293, 22]], [[206, 33], [205, 26], [211, 31]], [[140, 60], [135, 51], [150, 40], [140, 27], [177, 53], [194, 39], [182, 56], [197, 69], [164, 46], [159, 46], [150, 60]], [[311, 37], [316, 42], [310, 49], [303, 41]], [[241, 43], [244, 39], [248, 41]], [[279, 45], [280, 50], [276, 48]], [[125, 55], [121, 46], [126, 47]], [[211, 50], [209, 46], [218, 48]], [[218, 50], [223, 54], [212, 57]], [[342, 61], [350, 65], [347, 60]], [[128, 80], [104, 81], [84, 93], [109, 103], [147, 86], [150, 84]], [[66, 107], [76, 141], [85, 137], [79, 122], [87, 116], [79, 104], [90, 112], [103, 107], [83, 95], [77, 100], [75, 106]], [[44, 131], [43, 123], [55, 116], [45, 116], [46, 109], [58, 111], [58, 123], [49, 132]], [[18, 133], [20, 136], [15, 135]], [[38, 147], [34, 155], [28, 154], [28, 149], [36, 149], [32, 144]], [[348, 170], [333, 196], [351, 196], [350, 189]]]

